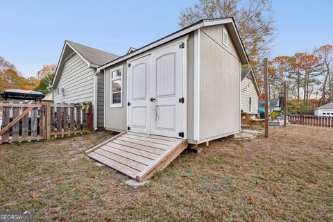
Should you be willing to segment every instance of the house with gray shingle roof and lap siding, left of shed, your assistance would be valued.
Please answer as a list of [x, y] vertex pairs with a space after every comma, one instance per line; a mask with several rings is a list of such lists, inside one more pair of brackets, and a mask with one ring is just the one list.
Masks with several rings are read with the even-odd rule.
[[104, 75], [96, 69], [118, 58], [111, 53], [66, 40], [49, 90], [54, 103], [88, 103], [94, 107], [94, 128], [104, 123]]

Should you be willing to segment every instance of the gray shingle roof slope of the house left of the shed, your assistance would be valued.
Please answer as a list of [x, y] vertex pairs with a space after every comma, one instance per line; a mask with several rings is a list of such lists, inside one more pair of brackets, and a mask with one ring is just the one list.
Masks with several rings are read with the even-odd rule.
[[110, 62], [119, 56], [114, 55], [112, 53], [107, 53], [106, 51], [101, 51], [99, 49], [94, 49], [89, 46], [84, 46], [83, 44], [78, 44], [76, 42], [71, 42], [66, 40], [68, 44], [70, 44], [78, 53], [80, 53], [83, 58], [88, 60], [91, 64], [94, 65], [103, 65], [106, 62]]

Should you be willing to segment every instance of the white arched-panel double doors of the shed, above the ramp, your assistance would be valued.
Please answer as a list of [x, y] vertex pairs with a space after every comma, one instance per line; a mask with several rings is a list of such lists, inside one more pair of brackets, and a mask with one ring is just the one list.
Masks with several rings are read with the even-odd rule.
[[129, 62], [128, 130], [180, 137], [183, 49], [179, 44]]

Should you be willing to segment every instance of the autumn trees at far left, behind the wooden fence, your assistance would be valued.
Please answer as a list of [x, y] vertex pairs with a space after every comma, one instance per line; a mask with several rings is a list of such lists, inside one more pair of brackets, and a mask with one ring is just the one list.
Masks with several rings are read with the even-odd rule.
[[46, 87], [51, 84], [55, 69], [55, 65], [44, 65], [37, 74], [26, 78], [15, 65], [0, 56], [0, 91], [24, 89], [48, 94]]

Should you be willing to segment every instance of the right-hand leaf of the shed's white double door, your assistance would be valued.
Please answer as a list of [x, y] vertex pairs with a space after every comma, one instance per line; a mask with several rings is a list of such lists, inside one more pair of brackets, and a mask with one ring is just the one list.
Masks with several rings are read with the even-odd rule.
[[182, 53], [173, 44], [151, 54], [151, 96], [155, 99], [151, 119], [151, 134], [180, 137], [182, 130]]

